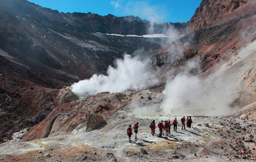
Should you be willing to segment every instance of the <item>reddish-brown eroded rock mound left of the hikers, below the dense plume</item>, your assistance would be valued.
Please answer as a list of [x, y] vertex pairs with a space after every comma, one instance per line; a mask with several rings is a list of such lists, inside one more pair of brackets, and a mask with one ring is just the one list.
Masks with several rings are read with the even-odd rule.
[[106, 124], [104, 117], [113, 116], [131, 102], [123, 93], [99, 93], [57, 106], [48, 117], [23, 136], [34, 140], [54, 136], [56, 133], [79, 133], [92, 131]]

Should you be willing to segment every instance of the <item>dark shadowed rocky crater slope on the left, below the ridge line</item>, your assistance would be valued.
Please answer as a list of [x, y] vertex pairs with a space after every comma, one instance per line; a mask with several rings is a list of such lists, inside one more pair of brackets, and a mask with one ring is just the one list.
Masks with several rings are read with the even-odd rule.
[[[151, 51], [167, 41], [105, 34], [146, 34], [150, 22], [140, 18], [64, 14], [26, 0], [0, 0], [0, 20], [0, 138], [7, 139], [18, 129], [37, 124], [57, 106], [55, 88], [105, 74], [124, 53]], [[154, 25], [160, 33], [170, 26], [181, 31], [186, 26]], [[51, 104], [31, 104], [38, 99]]]

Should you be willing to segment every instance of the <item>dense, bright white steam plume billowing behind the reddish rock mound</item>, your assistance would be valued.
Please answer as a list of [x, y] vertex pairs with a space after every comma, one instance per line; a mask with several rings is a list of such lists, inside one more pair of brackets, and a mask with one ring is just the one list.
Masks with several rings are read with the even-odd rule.
[[83, 98], [99, 92], [122, 92], [129, 88], [139, 90], [158, 83], [156, 76], [150, 72], [149, 60], [124, 55], [117, 59], [116, 68], [109, 66], [107, 76], [94, 74], [90, 79], [74, 83], [72, 92]]

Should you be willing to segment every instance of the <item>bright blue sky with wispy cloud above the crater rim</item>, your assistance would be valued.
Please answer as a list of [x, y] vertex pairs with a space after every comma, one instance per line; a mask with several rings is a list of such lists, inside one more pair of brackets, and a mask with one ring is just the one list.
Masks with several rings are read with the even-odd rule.
[[202, 0], [28, 0], [60, 12], [134, 15], [153, 22], [187, 22]]

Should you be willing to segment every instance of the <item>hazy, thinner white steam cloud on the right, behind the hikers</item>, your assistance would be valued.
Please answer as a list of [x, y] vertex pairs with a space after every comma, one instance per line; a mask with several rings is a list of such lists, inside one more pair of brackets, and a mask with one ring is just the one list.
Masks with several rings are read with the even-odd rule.
[[[189, 62], [184, 72], [168, 81], [162, 103], [165, 114], [225, 115], [232, 111], [230, 104], [237, 97], [239, 84], [235, 77], [219, 71], [203, 79], [189, 73], [196, 62]], [[226, 66], [226, 65], [222, 65]]]

